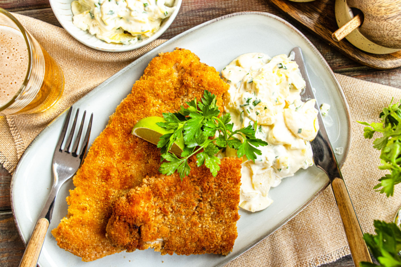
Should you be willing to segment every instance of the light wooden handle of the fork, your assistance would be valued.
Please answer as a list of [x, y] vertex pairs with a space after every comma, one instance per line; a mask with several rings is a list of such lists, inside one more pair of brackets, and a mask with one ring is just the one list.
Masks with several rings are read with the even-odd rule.
[[48, 229], [49, 221], [45, 218], [39, 219], [22, 256], [20, 267], [36, 267]]

